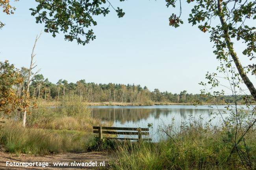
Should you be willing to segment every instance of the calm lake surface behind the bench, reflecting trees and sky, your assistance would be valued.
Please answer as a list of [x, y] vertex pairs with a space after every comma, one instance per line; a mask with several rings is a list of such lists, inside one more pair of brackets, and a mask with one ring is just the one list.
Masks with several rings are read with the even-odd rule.
[[[240, 106], [239, 106], [240, 107]], [[189, 121], [192, 117], [202, 122], [208, 122], [212, 119], [211, 124], [219, 126], [221, 117], [212, 115], [213, 108], [208, 106], [189, 106], [189, 105], [168, 105], [168, 106], [90, 106], [91, 115], [102, 121], [113, 121], [115, 127], [148, 127], [148, 123], [153, 124], [150, 129], [150, 137], [153, 141], [158, 141], [158, 127], [171, 124], [172, 121], [176, 126], [181, 122]], [[215, 106], [221, 112], [226, 110], [225, 106]], [[224, 117], [228, 114], [224, 114]], [[213, 119], [213, 117], [215, 117]]]

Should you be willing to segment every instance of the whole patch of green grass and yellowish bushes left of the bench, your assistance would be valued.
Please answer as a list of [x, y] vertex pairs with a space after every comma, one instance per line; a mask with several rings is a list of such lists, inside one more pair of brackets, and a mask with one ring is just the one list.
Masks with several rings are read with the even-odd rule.
[[82, 151], [85, 150], [88, 136], [94, 136], [92, 126], [112, 124], [102, 124], [100, 120], [93, 119], [86, 103], [76, 95], [67, 95], [51, 107], [41, 100], [37, 105], [27, 116], [26, 128], [20, 125], [19, 119], [3, 124], [0, 144], [8, 152], [43, 155]]

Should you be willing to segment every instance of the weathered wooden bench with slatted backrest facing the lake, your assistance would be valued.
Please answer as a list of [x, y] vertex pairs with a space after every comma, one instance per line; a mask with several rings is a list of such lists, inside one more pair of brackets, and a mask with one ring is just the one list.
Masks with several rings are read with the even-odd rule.
[[[117, 131], [117, 130], [122, 130], [122, 131]], [[112, 135], [138, 135], [138, 138], [126, 138], [126, 137], [104, 137], [104, 138], [119, 139], [119, 140], [152, 141], [151, 138], [142, 137], [142, 135], [149, 135], [148, 131], [149, 131], [148, 128], [122, 128], [122, 127], [93, 126], [93, 133], [98, 133], [100, 139], [103, 139], [102, 134], [112, 134]]]

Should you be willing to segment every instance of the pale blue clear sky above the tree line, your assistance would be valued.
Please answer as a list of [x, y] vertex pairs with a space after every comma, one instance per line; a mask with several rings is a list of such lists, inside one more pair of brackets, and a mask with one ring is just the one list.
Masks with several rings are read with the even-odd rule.
[[[34, 0], [13, 2], [14, 15], [0, 13], [6, 24], [0, 30], [0, 61], [9, 60], [17, 68], [29, 68], [33, 43], [43, 31], [31, 16]], [[169, 26], [169, 16], [177, 9], [167, 8], [163, 0], [128, 0], [112, 5], [125, 12], [118, 18], [115, 11], [97, 16], [93, 27], [96, 39], [85, 46], [64, 40], [62, 33], [53, 38], [43, 33], [35, 48], [35, 61], [40, 73], [50, 82], [59, 79], [76, 82], [85, 79], [95, 83], [140, 84], [149, 90], [200, 93], [198, 82], [206, 81], [219, 62], [213, 55], [209, 33], [187, 23], [190, 6], [184, 3], [179, 28]], [[241, 54], [244, 45], [235, 44]], [[247, 58], [241, 59], [248, 64]], [[255, 76], [250, 76], [256, 84]]]

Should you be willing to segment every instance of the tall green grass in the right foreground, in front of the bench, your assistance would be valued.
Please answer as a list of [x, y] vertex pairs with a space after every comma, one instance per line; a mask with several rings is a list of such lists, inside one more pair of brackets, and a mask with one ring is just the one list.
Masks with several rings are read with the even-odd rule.
[[[237, 170], [245, 169], [232, 146], [225, 142], [224, 130], [190, 125], [159, 143], [111, 144], [117, 152], [108, 170]], [[247, 136], [252, 163], [256, 164], [256, 133]], [[110, 143], [110, 142], [108, 142]], [[106, 143], [107, 144], [107, 143]], [[104, 146], [104, 144], [101, 144]], [[93, 147], [91, 147], [93, 148]], [[104, 147], [109, 149], [109, 147]]]

